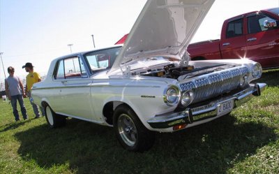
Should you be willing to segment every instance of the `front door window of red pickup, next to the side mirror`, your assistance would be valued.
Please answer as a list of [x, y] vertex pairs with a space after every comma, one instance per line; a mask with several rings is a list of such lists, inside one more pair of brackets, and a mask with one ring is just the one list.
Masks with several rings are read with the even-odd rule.
[[255, 34], [261, 31], [266, 31], [264, 28], [264, 21], [272, 20], [270, 17], [265, 15], [252, 15], [248, 17], [248, 34]]

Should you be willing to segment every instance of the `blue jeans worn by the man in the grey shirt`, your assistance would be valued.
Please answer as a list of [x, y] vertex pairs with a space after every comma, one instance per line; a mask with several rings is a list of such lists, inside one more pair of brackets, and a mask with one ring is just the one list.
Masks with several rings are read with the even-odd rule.
[[24, 106], [22, 94], [10, 96], [10, 103], [13, 106], [13, 115], [15, 116], [15, 121], [20, 120], [20, 116], [18, 115], [17, 111], [17, 101], [20, 103], [20, 110], [22, 111], [22, 116], [24, 119], [27, 119], [27, 110]]

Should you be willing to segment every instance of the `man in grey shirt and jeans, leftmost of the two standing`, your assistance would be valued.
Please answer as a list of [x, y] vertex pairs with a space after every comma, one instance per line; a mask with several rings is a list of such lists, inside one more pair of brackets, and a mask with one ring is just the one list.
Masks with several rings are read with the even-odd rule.
[[8, 99], [10, 100], [10, 103], [12, 104], [13, 107], [13, 115], [15, 116], [15, 121], [17, 122], [20, 120], [20, 115], [18, 115], [18, 111], [17, 111], [17, 101], [18, 103], [20, 103], [20, 110], [22, 111], [22, 116], [23, 119], [25, 120], [28, 118], [28, 116], [23, 101], [23, 96], [25, 97], [24, 87], [22, 85], [20, 78], [14, 75], [15, 68], [9, 66], [8, 73], [9, 76], [8, 78], [5, 79], [5, 90], [6, 90], [6, 95], [8, 96]]

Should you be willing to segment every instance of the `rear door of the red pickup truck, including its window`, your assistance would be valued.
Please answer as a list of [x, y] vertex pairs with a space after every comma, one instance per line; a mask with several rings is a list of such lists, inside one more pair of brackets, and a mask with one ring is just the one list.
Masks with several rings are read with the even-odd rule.
[[239, 59], [246, 56], [246, 38], [243, 34], [243, 17], [227, 22], [220, 41], [223, 59]]

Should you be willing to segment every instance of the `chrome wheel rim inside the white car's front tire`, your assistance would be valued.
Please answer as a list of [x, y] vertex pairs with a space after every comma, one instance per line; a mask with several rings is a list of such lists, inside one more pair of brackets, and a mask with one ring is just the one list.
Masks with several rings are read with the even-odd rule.
[[126, 145], [133, 146], [137, 142], [137, 128], [132, 119], [126, 114], [119, 116], [117, 120], [119, 135]]

